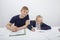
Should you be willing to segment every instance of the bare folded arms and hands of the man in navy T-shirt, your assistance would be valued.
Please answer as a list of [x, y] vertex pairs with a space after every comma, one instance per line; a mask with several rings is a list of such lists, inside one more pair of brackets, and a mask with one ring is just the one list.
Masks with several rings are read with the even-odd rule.
[[25, 22], [25, 25], [23, 25], [23, 26], [21, 26], [21, 27], [14, 26], [14, 25], [11, 24], [11, 23], [8, 23], [8, 24], [6, 25], [6, 27], [7, 27], [7, 29], [9, 29], [9, 30], [11, 30], [11, 31], [16, 32], [16, 31], [18, 31], [18, 30], [22, 30], [22, 29], [27, 28], [28, 25], [29, 25], [29, 20], [27, 20], [27, 21]]

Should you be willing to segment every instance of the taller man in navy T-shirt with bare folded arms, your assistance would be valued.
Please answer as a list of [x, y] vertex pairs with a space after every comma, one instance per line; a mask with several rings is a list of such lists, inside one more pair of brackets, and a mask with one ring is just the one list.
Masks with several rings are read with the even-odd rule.
[[27, 26], [29, 25], [28, 12], [28, 7], [23, 6], [21, 9], [21, 14], [12, 17], [6, 27], [12, 32], [27, 28]]

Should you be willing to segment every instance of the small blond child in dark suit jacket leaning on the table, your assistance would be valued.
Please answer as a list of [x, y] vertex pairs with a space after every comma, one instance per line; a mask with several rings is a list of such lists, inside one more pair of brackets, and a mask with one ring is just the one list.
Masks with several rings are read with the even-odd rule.
[[48, 30], [51, 29], [50, 26], [48, 26], [47, 24], [43, 23], [43, 19], [40, 15], [38, 15], [36, 17], [36, 21], [35, 20], [31, 20], [30, 21], [30, 25], [28, 26], [28, 29], [35, 31], [34, 27], [37, 30]]

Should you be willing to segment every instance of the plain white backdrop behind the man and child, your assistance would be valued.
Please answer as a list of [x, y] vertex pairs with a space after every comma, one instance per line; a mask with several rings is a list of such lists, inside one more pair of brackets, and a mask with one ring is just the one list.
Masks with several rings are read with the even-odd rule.
[[0, 26], [5, 26], [21, 7], [29, 7], [30, 20], [37, 15], [51, 26], [60, 26], [60, 0], [0, 0]]

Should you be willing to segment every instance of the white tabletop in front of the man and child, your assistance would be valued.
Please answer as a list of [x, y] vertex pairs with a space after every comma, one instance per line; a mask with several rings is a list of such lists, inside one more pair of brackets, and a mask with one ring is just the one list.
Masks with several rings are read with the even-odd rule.
[[6, 28], [0, 28], [0, 40], [60, 40], [60, 27], [52, 27], [51, 30], [41, 30], [41, 32], [32, 32], [26, 29], [26, 35], [9, 36], [10, 31]]

